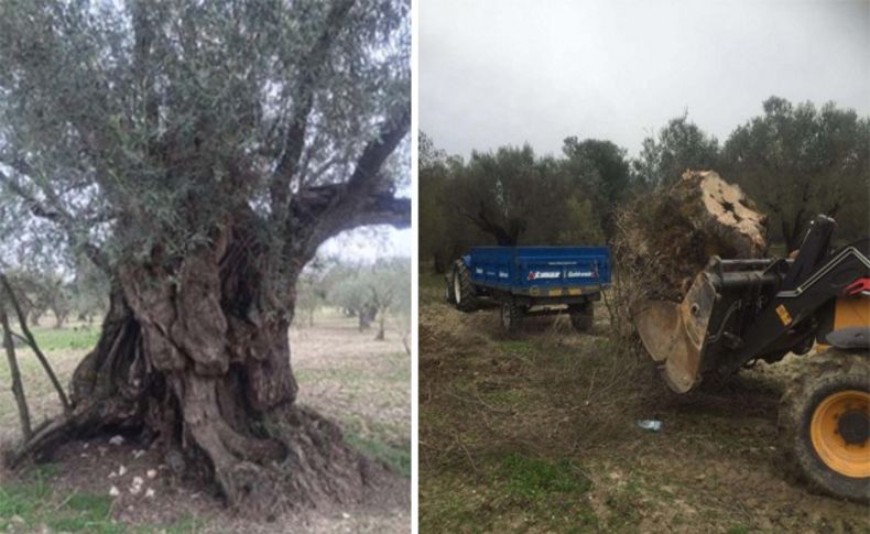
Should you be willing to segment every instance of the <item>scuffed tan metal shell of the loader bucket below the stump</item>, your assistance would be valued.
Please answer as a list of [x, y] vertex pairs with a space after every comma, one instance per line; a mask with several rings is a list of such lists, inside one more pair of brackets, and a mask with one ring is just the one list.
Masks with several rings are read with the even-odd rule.
[[707, 327], [716, 290], [706, 273], [695, 277], [683, 302], [642, 301], [632, 306], [641, 340], [667, 385], [677, 393], [689, 391], [700, 380]]

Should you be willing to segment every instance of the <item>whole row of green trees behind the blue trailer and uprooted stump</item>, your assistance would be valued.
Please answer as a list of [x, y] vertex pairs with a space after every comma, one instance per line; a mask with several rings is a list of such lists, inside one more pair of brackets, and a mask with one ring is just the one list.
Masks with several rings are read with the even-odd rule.
[[770, 216], [770, 240], [789, 250], [816, 214], [837, 219], [841, 242], [870, 235], [870, 118], [777, 97], [763, 108], [722, 148], [684, 113], [631, 160], [609, 141], [572, 137], [559, 159], [504, 146], [464, 162], [420, 132], [421, 261], [445, 272], [476, 244], [607, 242], [620, 205], [688, 168], [739, 184]]

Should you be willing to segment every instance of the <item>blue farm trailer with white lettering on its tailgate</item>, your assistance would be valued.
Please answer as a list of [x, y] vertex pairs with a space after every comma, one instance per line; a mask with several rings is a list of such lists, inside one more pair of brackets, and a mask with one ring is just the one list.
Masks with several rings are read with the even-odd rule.
[[565, 310], [580, 331], [592, 326], [595, 301], [610, 285], [607, 247], [475, 247], [456, 260], [446, 297], [458, 309], [478, 309], [482, 299], [501, 306], [508, 331], [523, 316]]

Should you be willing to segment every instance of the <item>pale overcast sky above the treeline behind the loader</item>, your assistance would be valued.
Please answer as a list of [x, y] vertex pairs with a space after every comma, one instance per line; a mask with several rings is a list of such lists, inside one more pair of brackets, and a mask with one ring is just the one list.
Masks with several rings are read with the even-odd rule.
[[771, 95], [870, 115], [870, 0], [421, 4], [421, 129], [454, 154], [577, 135], [634, 155], [684, 110], [725, 141]]

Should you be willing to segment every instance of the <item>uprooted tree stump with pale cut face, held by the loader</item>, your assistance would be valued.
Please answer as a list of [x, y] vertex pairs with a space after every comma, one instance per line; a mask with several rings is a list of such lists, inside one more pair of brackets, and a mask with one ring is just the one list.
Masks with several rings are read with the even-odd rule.
[[[679, 302], [710, 257], [761, 258], [766, 216], [714, 171], [686, 171], [617, 215], [613, 257], [620, 271], [616, 314], [630, 318], [640, 299]], [[630, 328], [630, 320], [621, 322]]]

